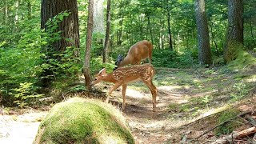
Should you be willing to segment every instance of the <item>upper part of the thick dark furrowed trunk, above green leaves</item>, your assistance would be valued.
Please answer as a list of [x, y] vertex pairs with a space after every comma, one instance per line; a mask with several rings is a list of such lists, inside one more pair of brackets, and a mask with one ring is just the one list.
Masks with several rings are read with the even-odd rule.
[[[42, 0], [42, 29], [47, 29], [46, 22], [49, 18], [53, 18], [55, 15], [65, 10], [68, 10], [70, 15], [58, 24], [58, 30], [56, 31], [62, 31], [62, 39], [52, 43], [54, 51], [65, 51], [67, 46], [75, 46], [79, 48], [78, 4], [77, 0]], [[72, 41], [66, 41], [66, 38], [72, 39]], [[79, 57], [79, 54], [79, 50], [74, 51], [74, 56]]]

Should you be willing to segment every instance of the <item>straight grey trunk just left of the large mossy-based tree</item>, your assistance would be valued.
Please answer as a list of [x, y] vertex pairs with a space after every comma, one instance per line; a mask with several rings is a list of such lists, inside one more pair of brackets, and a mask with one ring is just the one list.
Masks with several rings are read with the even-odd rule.
[[210, 66], [210, 41], [209, 29], [206, 18], [205, 0], [196, 0], [194, 3], [196, 22], [198, 27], [198, 60], [200, 65]]

